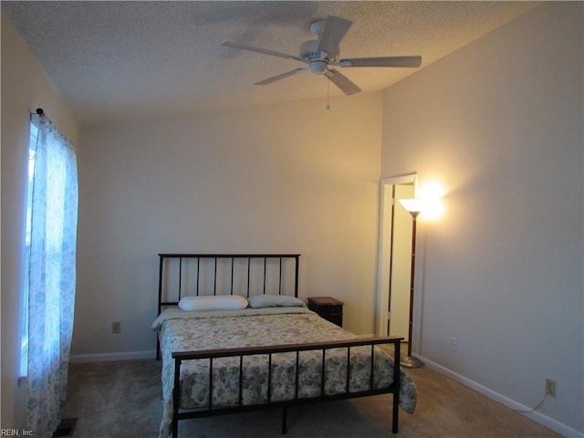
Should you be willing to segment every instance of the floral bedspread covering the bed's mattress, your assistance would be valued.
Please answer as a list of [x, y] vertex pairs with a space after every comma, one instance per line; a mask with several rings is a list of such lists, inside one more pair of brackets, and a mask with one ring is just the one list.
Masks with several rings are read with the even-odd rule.
[[[162, 422], [160, 437], [166, 438], [172, 426], [172, 388], [174, 365], [172, 351], [218, 348], [256, 347], [261, 345], [297, 344], [329, 340], [356, 339], [356, 335], [318, 317], [307, 308], [246, 308], [237, 311], [183, 312], [168, 309], [154, 321], [160, 329], [162, 352]], [[370, 347], [350, 349], [349, 391], [370, 389]], [[384, 388], [392, 382], [393, 360], [375, 348], [373, 386]], [[243, 361], [242, 403], [268, 400], [267, 355], [247, 356]], [[321, 393], [320, 350], [302, 351], [298, 365], [297, 397], [309, 398]], [[326, 395], [346, 391], [347, 349], [326, 350], [324, 392]], [[185, 360], [181, 368], [181, 408], [209, 406], [210, 360]], [[296, 397], [296, 353], [272, 356], [270, 401], [287, 401]], [[213, 361], [214, 407], [239, 405], [239, 358]], [[412, 413], [416, 389], [412, 379], [401, 372], [400, 405]]]

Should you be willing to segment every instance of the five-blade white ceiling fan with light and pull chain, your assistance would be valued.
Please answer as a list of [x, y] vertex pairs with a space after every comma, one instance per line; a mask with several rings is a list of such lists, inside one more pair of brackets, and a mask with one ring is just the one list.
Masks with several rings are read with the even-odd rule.
[[305, 67], [281, 73], [271, 78], [255, 82], [254, 85], [268, 85], [276, 80], [294, 76], [307, 69], [316, 75], [324, 75], [330, 79], [339, 89], [347, 94], [359, 93], [361, 89], [349, 78], [340, 73], [334, 67], [405, 67], [418, 68], [422, 64], [422, 57], [354, 57], [339, 58], [339, 43], [349, 31], [352, 21], [340, 16], [328, 16], [326, 19], [318, 19], [310, 24], [310, 32], [318, 35], [318, 39], [308, 40], [300, 46], [299, 56], [268, 50], [266, 48], [246, 46], [245, 44], [226, 41], [225, 47], [233, 47], [241, 50], [262, 53], [273, 57], [285, 57], [307, 64]]

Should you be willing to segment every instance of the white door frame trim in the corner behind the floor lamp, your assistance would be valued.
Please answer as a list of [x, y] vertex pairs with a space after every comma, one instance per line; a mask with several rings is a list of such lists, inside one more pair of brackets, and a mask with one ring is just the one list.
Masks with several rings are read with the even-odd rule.
[[391, 200], [393, 186], [396, 184], [412, 184], [413, 193], [417, 193], [418, 173], [381, 178], [380, 187], [380, 223], [379, 252], [377, 257], [377, 336], [387, 336], [388, 312], [390, 307], [390, 266], [391, 266]]

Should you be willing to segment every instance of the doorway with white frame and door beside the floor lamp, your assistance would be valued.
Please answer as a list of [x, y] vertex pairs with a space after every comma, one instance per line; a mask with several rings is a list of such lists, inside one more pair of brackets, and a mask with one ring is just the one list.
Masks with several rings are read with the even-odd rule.
[[377, 334], [408, 339], [412, 216], [400, 199], [413, 198], [416, 173], [381, 180]]

